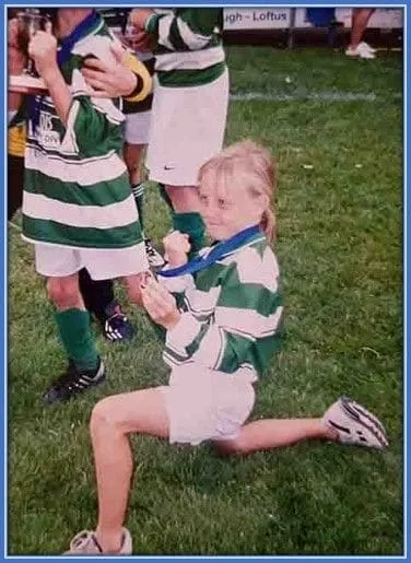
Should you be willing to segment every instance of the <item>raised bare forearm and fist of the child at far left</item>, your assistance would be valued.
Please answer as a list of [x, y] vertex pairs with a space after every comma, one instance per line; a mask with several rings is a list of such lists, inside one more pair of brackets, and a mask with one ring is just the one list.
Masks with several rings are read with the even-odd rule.
[[56, 37], [51, 33], [37, 32], [28, 44], [28, 55], [47, 84], [61, 122], [67, 126], [72, 97], [57, 63]]

